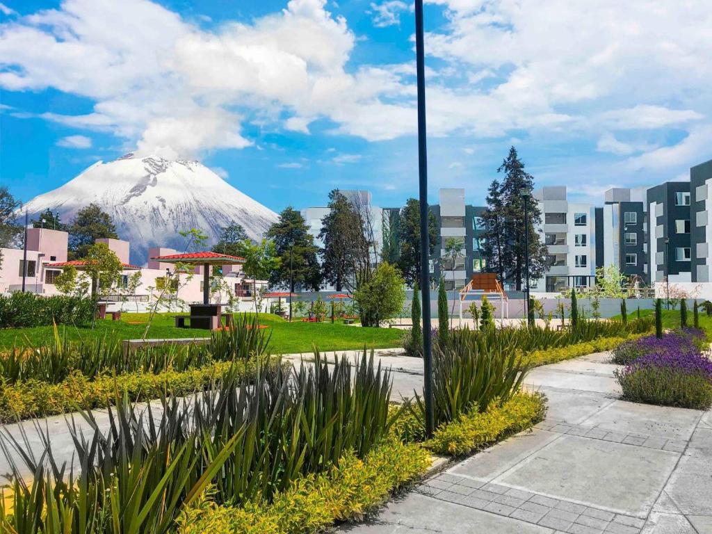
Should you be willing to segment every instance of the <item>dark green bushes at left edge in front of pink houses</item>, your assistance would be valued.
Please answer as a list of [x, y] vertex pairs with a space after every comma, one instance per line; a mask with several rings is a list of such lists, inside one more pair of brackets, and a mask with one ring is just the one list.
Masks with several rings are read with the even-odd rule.
[[93, 298], [15, 291], [0, 295], [0, 328], [47, 326], [52, 323], [88, 325], [94, 318], [96, 300]]

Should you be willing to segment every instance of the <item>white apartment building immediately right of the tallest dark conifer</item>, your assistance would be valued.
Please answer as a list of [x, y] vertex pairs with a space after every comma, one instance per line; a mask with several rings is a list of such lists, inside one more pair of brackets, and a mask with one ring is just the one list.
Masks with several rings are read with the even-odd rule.
[[531, 281], [533, 293], [557, 293], [595, 282], [595, 211], [590, 204], [570, 202], [566, 186], [533, 192], [542, 214], [537, 229], [547, 246], [548, 271]]

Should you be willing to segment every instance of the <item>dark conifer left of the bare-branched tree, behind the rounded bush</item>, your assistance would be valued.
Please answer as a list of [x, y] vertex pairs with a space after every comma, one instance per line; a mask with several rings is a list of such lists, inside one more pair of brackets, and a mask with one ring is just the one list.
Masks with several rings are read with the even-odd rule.
[[322, 219], [319, 239], [324, 278], [337, 291], [345, 285], [357, 285], [357, 264], [360, 258], [369, 259], [370, 251], [360, 216], [353, 204], [338, 189], [329, 193], [329, 213]]

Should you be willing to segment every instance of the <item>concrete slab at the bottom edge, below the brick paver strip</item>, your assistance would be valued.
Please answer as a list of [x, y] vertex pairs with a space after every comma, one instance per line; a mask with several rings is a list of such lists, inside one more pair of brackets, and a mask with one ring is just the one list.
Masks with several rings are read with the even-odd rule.
[[550, 534], [548, 528], [409, 493], [388, 503], [376, 518], [342, 525], [339, 532], [357, 534]]

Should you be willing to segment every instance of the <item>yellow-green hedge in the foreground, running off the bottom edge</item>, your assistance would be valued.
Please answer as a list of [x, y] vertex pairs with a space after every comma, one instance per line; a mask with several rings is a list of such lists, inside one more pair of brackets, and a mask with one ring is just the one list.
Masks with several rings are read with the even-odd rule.
[[293, 483], [272, 503], [215, 506], [209, 497], [184, 511], [179, 534], [297, 534], [315, 533], [336, 520], [357, 520], [382, 504], [389, 493], [414, 480], [431, 465], [419, 444], [389, 439], [365, 459], [344, 456], [327, 473]]

